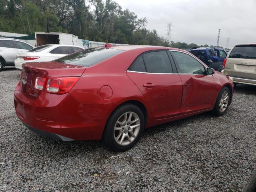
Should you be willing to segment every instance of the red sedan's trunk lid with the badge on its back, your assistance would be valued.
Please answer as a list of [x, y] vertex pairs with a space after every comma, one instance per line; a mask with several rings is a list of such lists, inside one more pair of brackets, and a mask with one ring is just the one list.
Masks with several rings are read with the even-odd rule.
[[29, 62], [22, 65], [20, 88], [31, 99], [36, 99], [44, 90], [35, 88], [37, 77], [80, 77], [86, 67], [59, 62]]

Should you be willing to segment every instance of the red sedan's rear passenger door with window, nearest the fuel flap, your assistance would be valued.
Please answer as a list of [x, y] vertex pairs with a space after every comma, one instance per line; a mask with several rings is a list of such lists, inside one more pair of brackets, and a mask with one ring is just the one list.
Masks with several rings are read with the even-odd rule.
[[182, 82], [173, 73], [170, 53], [151, 51], [140, 55], [127, 71], [148, 102], [155, 119], [180, 113]]

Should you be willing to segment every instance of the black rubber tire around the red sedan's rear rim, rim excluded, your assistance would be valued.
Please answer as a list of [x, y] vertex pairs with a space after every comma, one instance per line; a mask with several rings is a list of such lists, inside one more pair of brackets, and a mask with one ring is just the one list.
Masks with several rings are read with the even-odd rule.
[[[116, 143], [114, 139], [114, 126], [116, 124], [116, 121], [118, 118], [124, 114], [125, 112], [135, 112], [139, 118], [140, 118], [140, 131], [138, 133], [138, 136], [135, 138], [135, 140], [130, 143], [127, 146], [121, 146], [118, 143]], [[118, 107], [114, 112], [110, 115], [110, 118], [108, 119], [108, 122], [106, 124], [102, 140], [110, 148], [110, 150], [113, 150], [115, 152], [124, 152], [126, 150], [129, 150], [132, 148], [140, 139], [143, 131], [144, 131], [144, 115], [140, 108], [133, 104], [125, 104], [123, 106]]]

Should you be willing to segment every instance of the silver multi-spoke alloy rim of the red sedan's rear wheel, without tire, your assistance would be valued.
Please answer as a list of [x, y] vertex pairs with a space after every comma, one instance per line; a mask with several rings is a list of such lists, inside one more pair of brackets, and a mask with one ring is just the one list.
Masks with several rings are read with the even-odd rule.
[[140, 118], [135, 112], [122, 114], [114, 126], [114, 139], [122, 146], [132, 143], [140, 132]]

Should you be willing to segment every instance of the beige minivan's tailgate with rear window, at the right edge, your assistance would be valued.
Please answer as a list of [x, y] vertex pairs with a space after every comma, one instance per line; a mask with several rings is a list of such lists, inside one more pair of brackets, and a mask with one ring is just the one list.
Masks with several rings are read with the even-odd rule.
[[256, 79], [256, 45], [237, 45], [230, 52], [224, 74]]

